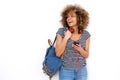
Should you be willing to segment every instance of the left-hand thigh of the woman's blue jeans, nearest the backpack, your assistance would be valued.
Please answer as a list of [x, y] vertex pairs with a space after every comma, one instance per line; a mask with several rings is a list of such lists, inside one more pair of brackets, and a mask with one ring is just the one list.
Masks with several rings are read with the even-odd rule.
[[74, 80], [74, 70], [61, 68], [59, 80]]

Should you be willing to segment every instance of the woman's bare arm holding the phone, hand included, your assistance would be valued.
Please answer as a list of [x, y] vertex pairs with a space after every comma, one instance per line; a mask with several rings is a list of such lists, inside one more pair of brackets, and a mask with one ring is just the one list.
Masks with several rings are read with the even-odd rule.
[[80, 54], [85, 57], [88, 58], [89, 55], [89, 44], [90, 44], [90, 38], [88, 38], [86, 40], [86, 44], [85, 44], [85, 48], [83, 49], [80, 45], [73, 45], [73, 47], [80, 52]]

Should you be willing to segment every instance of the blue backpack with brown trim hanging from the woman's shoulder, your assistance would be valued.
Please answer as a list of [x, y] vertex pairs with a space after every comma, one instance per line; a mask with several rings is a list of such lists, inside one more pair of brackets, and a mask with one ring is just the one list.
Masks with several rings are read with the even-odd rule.
[[50, 46], [46, 50], [46, 55], [43, 61], [43, 71], [45, 74], [49, 76], [50, 80], [51, 80], [51, 77], [62, 66], [62, 59], [60, 57], [57, 57], [55, 53], [55, 47], [54, 47], [55, 41], [56, 41], [56, 37], [53, 44], [51, 43], [50, 40], [48, 40], [48, 43]]

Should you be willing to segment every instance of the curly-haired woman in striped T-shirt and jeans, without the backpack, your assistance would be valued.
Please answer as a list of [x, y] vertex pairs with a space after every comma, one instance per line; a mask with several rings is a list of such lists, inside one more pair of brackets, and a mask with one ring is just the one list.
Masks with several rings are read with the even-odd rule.
[[90, 34], [88, 12], [78, 5], [67, 5], [61, 13], [63, 28], [57, 31], [56, 55], [63, 59], [59, 80], [87, 80], [86, 58]]

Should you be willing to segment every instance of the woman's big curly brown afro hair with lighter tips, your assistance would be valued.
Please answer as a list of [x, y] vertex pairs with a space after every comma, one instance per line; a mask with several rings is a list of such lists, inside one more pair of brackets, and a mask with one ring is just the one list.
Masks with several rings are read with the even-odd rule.
[[88, 26], [88, 23], [89, 23], [89, 13], [77, 4], [67, 5], [63, 9], [63, 11], [61, 13], [61, 16], [62, 16], [61, 23], [62, 23], [62, 25], [64, 27], [69, 28], [66, 19], [67, 19], [67, 14], [71, 11], [75, 12], [76, 15], [77, 15], [78, 29], [85, 29]]

